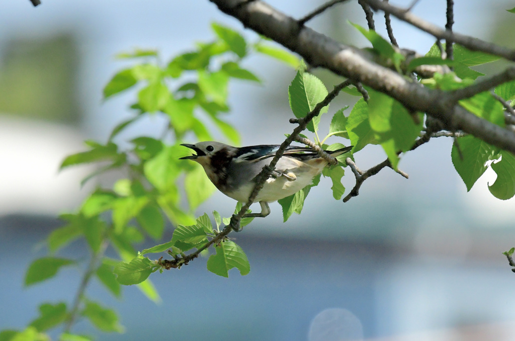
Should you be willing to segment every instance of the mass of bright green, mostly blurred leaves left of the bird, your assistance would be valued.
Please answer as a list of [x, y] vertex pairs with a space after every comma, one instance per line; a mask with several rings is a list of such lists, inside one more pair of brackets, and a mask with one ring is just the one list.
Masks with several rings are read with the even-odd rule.
[[[269, 45], [264, 39], [249, 44], [236, 31], [212, 24], [215, 38], [209, 43], [198, 43], [190, 52], [181, 54], [162, 65], [160, 56], [153, 50], [136, 50], [118, 57], [134, 60], [135, 65], [114, 75], [104, 89], [110, 98], [123, 91], [134, 89], [137, 100], [131, 105], [132, 114], [113, 128], [106, 143], [86, 141], [87, 151], [68, 156], [61, 168], [99, 162], [101, 166], [82, 183], [106, 171], [115, 169], [121, 179], [112, 188], [97, 188], [75, 213], [61, 215], [66, 223], [47, 238], [49, 255], [37, 259], [29, 266], [25, 285], [31, 286], [55, 277], [64, 267], [80, 267], [78, 261], [59, 257], [59, 251], [75, 240], [85, 240], [91, 258], [85, 266], [77, 301], [43, 303], [39, 316], [22, 331], [0, 332], [0, 340], [47, 340], [47, 332], [61, 327], [61, 340], [90, 340], [89, 335], [70, 333], [78, 318], [88, 319], [94, 327], [104, 332], [122, 332], [115, 311], [102, 306], [82, 292], [87, 283], [96, 279], [115, 297], [122, 295], [121, 284], [131, 284], [124, 276], [123, 264], [142, 262], [142, 254], [157, 252], [160, 247], [136, 251], [136, 245], [145, 238], [161, 240], [167, 221], [178, 225], [173, 235], [170, 254], [183, 253], [199, 247], [212, 236], [207, 215], [195, 219], [194, 211], [214, 191], [200, 165], [180, 161], [185, 148], [179, 146], [186, 136], [194, 134], [198, 140], [212, 140], [208, 126], [215, 126], [235, 144], [239, 135], [224, 118], [230, 79], [259, 83], [252, 72], [241, 66], [252, 52], [262, 53], [289, 65], [297, 66], [299, 60], [282, 49]], [[148, 115], [167, 118], [168, 125], [161, 137], [141, 136], [117, 143], [120, 134]], [[205, 118], [207, 117], [207, 118]], [[173, 144], [167, 144], [167, 141]], [[187, 207], [180, 191], [184, 181]], [[217, 229], [219, 215], [215, 215]], [[245, 222], [243, 223], [245, 224]], [[204, 233], [201, 236], [201, 233]], [[105, 256], [110, 247], [122, 261]], [[249, 271], [245, 254], [231, 241], [215, 246], [216, 254], [208, 261], [208, 268], [220, 276], [237, 267], [243, 275]], [[164, 249], [163, 249], [164, 251]], [[175, 253], [175, 254], [177, 254]], [[156, 265], [156, 262], [152, 263]], [[225, 270], [224, 270], [225, 269]], [[118, 278], [116, 278], [116, 274]], [[133, 281], [134, 282], [134, 281]], [[149, 280], [137, 281], [138, 287], [151, 300], [159, 295]]]

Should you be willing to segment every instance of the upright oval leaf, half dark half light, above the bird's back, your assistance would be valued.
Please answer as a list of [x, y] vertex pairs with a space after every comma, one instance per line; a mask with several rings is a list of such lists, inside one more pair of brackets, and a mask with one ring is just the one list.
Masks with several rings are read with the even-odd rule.
[[[305, 117], [327, 95], [328, 91], [320, 79], [300, 70], [288, 87], [290, 108], [297, 118]], [[307, 129], [311, 132], [318, 130], [320, 116], [328, 109], [329, 106], [323, 107], [318, 116], [313, 117], [313, 120], [307, 125]]]

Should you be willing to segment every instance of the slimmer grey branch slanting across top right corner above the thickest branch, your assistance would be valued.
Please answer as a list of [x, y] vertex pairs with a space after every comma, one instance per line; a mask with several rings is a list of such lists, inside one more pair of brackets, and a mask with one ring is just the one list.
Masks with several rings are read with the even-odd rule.
[[393, 16], [396, 16], [398, 19], [405, 21], [427, 33], [430, 33], [438, 39], [445, 39], [447, 41], [458, 43], [473, 51], [482, 51], [488, 54], [506, 58], [511, 61], [515, 61], [515, 50], [512, 50], [510, 48], [488, 43], [484, 40], [480, 40], [470, 36], [453, 33], [452, 31], [444, 30], [436, 25], [433, 25], [422, 20], [415, 14], [410, 13], [405, 9], [396, 6], [391, 6], [390, 4], [382, 2], [381, 0], [363, 1], [369, 4], [370, 7], [372, 7], [373, 9], [380, 9], [382, 11], [388, 12]]

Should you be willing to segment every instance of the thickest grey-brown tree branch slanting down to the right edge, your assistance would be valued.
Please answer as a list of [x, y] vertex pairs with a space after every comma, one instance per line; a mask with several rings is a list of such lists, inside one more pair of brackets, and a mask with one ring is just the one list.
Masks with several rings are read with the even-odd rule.
[[[448, 130], [463, 130], [515, 154], [514, 132], [483, 120], [456, 105], [448, 93], [424, 88], [403, 75], [375, 63], [373, 54], [336, 42], [310, 28], [299, 26], [295, 19], [259, 0], [210, 1], [222, 12], [237, 18], [245, 27], [298, 53], [311, 65], [324, 67], [338, 75], [360, 81], [376, 91], [393, 97], [409, 110], [426, 112], [439, 120]], [[397, 8], [387, 3], [375, 0], [365, 1], [374, 8], [386, 8], [391, 14], [399, 14]], [[441, 38], [450, 38], [459, 42], [465, 37], [449, 34], [444, 33]], [[471, 42], [476, 44], [476, 48], [473, 48], [475, 50], [482, 50], [486, 46], [491, 48], [489, 52], [493, 54], [501, 52], [499, 55], [509, 57], [510, 60], [515, 59], [514, 51], [478, 39], [465, 38], [469, 41], [468, 45]], [[515, 74], [510, 74], [511, 76], [513, 76], [511, 79], [515, 79]]]

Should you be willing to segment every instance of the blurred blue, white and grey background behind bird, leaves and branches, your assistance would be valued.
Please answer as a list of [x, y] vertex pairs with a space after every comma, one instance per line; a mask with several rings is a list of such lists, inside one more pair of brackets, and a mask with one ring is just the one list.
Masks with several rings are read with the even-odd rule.
[[[321, 4], [273, 2], [295, 18]], [[515, 47], [515, 16], [506, 11], [512, 7], [507, 0], [456, 0], [454, 29]], [[414, 12], [445, 25], [444, 0], [421, 0]], [[348, 20], [366, 26], [357, 2], [338, 5], [308, 26], [368, 46], [364, 39], [351, 40], [359, 34]], [[386, 36], [382, 15], [375, 20]], [[95, 181], [112, 181], [104, 177], [81, 189], [80, 180], [92, 168], [58, 172], [58, 166], [64, 156], [84, 149], [84, 139], [106, 141], [128, 116], [134, 92], [102, 101], [104, 85], [127, 63], [114, 56], [149, 48], [166, 61], [211, 39], [213, 21], [257, 39], [207, 0], [43, 0], [37, 8], [28, 0], [0, 2], [0, 330], [22, 329], [40, 303], [71, 301], [76, 292], [76, 269], [29, 288], [23, 278], [28, 264], [45, 254], [44, 238], [61, 225], [57, 215], [76, 208]], [[425, 54], [434, 43], [425, 33], [392, 23], [401, 47]], [[287, 86], [295, 71], [262, 56], [245, 66], [263, 84], [231, 83], [229, 121], [243, 145], [281, 143], [293, 129]], [[317, 75], [328, 88], [338, 82], [328, 72]], [[322, 134], [330, 114], [352, 107], [354, 100], [341, 96], [331, 105], [322, 117]], [[149, 118], [120, 139], [157, 135], [162, 127], [162, 120]], [[157, 305], [136, 287], [126, 287], [116, 300], [93, 283], [88, 295], [113, 306], [126, 332], [99, 334], [85, 321], [74, 331], [102, 340], [513, 340], [515, 275], [501, 252], [515, 245], [514, 201], [490, 195], [493, 172], [467, 193], [454, 171], [451, 145], [451, 139], [438, 138], [410, 152], [399, 166], [409, 180], [384, 169], [347, 203], [334, 200], [331, 182], [322, 179], [302, 215], [284, 224], [279, 204], [271, 204], [269, 217], [234, 236], [250, 260], [247, 276], [232, 270], [229, 279], [218, 277], [199, 259], [151, 276], [162, 299]], [[362, 169], [384, 159], [381, 147], [355, 155]], [[350, 191], [350, 171], [343, 182]], [[216, 193], [198, 213], [229, 216], [233, 209], [232, 199]], [[67, 252], [87, 257], [80, 243]]]

